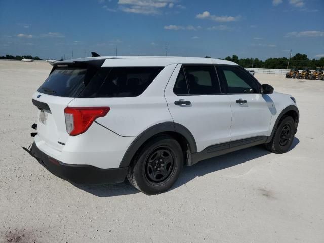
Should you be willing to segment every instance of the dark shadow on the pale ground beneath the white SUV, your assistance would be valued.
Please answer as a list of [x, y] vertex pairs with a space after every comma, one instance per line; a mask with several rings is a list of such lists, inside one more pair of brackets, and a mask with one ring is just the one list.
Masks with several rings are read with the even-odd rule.
[[[289, 151], [294, 149], [299, 143], [298, 138], [294, 138], [292, 146]], [[241, 163], [245, 163], [249, 160], [259, 158], [269, 154], [268, 150], [264, 148], [264, 145], [259, 145], [251, 148], [242, 149], [236, 152], [218, 156], [215, 158], [210, 158], [205, 161], [201, 161], [193, 166], [185, 166], [183, 172], [175, 185], [170, 189], [173, 190], [178, 188], [197, 176], [204, 176], [206, 174], [229, 168]], [[280, 156], [280, 155], [278, 155]], [[98, 197], [111, 197], [111, 196], [121, 196], [139, 193], [126, 179], [124, 182], [115, 185], [77, 185], [73, 184], [77, 188], [91, 193]]]

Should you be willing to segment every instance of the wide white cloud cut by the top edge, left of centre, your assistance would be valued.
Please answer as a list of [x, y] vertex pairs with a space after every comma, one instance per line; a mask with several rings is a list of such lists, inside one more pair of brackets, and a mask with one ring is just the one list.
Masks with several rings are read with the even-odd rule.
[[176, 0], [118, 0], [121, 11], [135, 14], [159, 14], [160, 9], [172, 8]]

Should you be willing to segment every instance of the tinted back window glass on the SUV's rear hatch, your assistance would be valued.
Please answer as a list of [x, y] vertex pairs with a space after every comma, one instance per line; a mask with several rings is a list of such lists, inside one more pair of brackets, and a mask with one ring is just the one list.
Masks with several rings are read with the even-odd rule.
[[85, 88], [87, 69], [57, 68], [39, 87], [38, 92], [64, 97], [77, 97]]

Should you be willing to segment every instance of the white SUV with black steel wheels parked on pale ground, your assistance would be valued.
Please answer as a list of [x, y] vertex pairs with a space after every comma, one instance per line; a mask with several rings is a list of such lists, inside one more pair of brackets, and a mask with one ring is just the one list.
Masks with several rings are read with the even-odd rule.
[[157, 194], [184, 165], [265, 144], [291, 146], [299, 111], [237, 64], [210, 58], [93, 57], [55, 62], [32, 97], [30, 153], [77, 184]]

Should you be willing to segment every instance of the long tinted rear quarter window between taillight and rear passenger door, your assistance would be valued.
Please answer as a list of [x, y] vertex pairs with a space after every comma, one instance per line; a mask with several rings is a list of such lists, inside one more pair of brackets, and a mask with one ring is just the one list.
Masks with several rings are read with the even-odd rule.
[[163, 67], [114, 67], [92, 96], [134, 97], [142, 94]]

